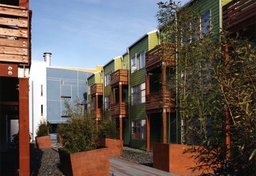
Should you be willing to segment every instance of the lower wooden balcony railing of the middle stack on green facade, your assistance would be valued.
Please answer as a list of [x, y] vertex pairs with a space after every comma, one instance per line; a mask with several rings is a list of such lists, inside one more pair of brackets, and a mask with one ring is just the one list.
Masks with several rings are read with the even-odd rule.
[[129, 103], [128, 102], [121, 102], [116, 104], [110, 105], [110, 114], [112, 118], [119, 117], [128, 117], [129, 115]]

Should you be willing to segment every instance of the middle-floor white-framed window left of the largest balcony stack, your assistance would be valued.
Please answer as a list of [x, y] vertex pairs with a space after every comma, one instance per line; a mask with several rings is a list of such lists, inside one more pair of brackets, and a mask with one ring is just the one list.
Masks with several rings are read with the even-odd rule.
[[132, 105], [145, 102], [145, 83], [132, 87]]

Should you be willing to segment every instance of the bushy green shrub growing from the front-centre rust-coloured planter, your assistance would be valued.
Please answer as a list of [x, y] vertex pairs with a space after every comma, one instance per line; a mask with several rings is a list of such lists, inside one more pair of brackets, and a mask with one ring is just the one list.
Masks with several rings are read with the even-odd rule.
[[79, 100], [75, 100], [75, 107], [72, 108], [68, 101], [65, 100], [66, 108], [63, 113], [68, 116], [68, 120], [58, 124], [57, 132], [62, 138], [64, 150], [68, 154], [84, 152], [97, 148], [95, 143], [96, 130], [93, 126], [93, 119], [87, 113], [84, 113], [83, 107]]

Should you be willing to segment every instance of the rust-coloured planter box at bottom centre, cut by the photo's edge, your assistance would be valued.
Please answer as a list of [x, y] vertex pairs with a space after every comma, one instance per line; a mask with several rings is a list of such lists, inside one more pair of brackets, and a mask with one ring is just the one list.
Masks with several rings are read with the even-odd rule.
[[66, 176], [109, 175], [109, 148], [66, 154], [59, 150], [61, 172]]

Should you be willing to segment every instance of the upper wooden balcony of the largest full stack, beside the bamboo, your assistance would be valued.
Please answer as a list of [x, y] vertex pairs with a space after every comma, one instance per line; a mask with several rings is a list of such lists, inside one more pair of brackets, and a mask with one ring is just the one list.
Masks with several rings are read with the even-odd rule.
[[161, 44], [146, 53], [145, 68], [153, 70], [161, 65], [175, 66], [175, 47], [171, 44]]

